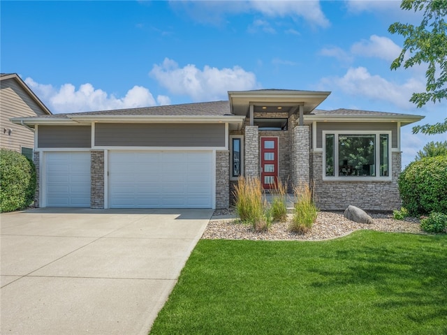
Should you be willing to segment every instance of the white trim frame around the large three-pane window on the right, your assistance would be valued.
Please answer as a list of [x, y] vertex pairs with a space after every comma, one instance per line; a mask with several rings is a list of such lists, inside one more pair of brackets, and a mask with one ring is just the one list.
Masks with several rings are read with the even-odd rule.
[[[334, 176], [326, 176], [326, 135], [333, 134], [334, 135]], [[380, 175], [380, 135], [386, 134], [388, 135], [388, 176]], [[339, 161], [338, 155], [338, 144], [339, 144], [339, 135], [375, 135], [375, 160], [376, 160], [376, 176], [375, 177], [344, 177], [339, 175], [338, 164], [335, 162]], [[392, 171], [393, 171], [393, 159], [392, 159], [392, 131], [352, 131], [352, 130], [344, 130], [344, 131], [322, 131], [322, 139], [321, 142], [323, 144], [323, 160], [321, 164], [323, 165], [323, 181], [391, 181], [392, 180]]]

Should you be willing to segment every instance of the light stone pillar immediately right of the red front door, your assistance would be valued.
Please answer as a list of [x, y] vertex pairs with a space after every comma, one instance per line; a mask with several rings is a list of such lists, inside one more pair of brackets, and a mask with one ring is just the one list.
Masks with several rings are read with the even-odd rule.
[[292, 182], [309, 185], [309, 126], [295, 126], [292, 133]]

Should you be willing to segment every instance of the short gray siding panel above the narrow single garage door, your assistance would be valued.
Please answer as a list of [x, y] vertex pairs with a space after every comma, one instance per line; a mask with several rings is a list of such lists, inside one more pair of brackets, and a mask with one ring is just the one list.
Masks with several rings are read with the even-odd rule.
[[90, 126], [38, 126], [38, 148], [89, 148]]

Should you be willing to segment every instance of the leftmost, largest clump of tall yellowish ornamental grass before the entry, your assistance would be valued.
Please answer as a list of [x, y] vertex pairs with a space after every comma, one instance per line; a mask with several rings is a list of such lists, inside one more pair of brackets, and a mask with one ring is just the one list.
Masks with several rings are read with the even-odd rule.
[[263, 188], [256, 178], [240, 177], [235, 186], [236, 211], [241, 221], [254, 224], [263, 218]]

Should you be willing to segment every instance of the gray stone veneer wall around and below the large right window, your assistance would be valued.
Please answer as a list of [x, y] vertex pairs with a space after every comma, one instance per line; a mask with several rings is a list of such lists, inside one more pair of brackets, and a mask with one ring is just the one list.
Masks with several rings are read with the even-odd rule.
[[350, 204], [372, 211], [400, 209], [400, 152], [392, 153], [391, 181], [323, 181], [323, 153], [314, 152], [312, 156], [314, 201], [319, 209], [344, 210]]

